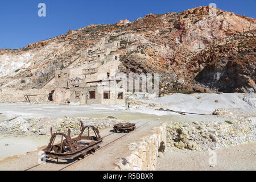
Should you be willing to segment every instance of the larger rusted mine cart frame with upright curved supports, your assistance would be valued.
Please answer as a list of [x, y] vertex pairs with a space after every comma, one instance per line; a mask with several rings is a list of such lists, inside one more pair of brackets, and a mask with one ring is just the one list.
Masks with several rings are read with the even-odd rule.
[[[89, 135], [89, 128], [91, 128], [95, 136]], [[83, 135], [85, 129], [88, 129], [88, 136]], [[100, 132], [94, 126], [84, 126], [81, 122], [81, 133], [78, 137], [71, 138], [71, 130], [68, 129], [68, 135], [63, 133], [52, 133], [51, 128], [51, 139], [44, 152], [46, 156], [56, 159], [74, 159], [84, 158], [87, 154], [92, 154], [99, 148], [98, 144], [102, 142]], [[61, 142], [54, 144], [56, 137], [61, 136]]]

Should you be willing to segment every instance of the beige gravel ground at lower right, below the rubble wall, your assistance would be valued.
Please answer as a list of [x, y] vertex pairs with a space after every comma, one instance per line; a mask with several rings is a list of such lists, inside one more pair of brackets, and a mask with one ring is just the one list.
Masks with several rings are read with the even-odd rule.
[[158, 158], [156, 169], [159, 171], [248, 171], [256, 170], [256, 143], [243, 144], [216, 151], [217, 164], [209, 165], [208, 152], [167, 149], [162, 158]]

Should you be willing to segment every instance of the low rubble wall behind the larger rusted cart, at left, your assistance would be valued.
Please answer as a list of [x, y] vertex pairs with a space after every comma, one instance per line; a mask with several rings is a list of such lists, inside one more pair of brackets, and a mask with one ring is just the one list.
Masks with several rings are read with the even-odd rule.
[[82, 117], [64, 117], [64, 118], [16, 118], [12, 121], [0, 123], [0, 133], [6, 135], [48, 135], [50, 129], [53, 133], [68, 133], [71, 129], [71, 135], [79, 135], [81, 132], [80, 121], [84, 125], [93, 125], [99, 129], [113, 126], [122, 122], [115, 118], [82, 118]]

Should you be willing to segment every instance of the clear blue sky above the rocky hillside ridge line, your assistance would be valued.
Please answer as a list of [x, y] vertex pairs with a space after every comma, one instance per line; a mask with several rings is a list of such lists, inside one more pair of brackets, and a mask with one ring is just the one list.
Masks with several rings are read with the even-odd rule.
[[[38, 16], [38, 4], [46, 4], [46, 17]], [[101, 0], [0, 0], [0, 49], [22, 48], [28, 43], [46, 40], [89, 24], [116, 23], [119, 19], [134, 21], [146, 14], [180, 12], [192, 7], [217, 7], [256, 18], [256, 0], [225, 1], [101, 1]]]

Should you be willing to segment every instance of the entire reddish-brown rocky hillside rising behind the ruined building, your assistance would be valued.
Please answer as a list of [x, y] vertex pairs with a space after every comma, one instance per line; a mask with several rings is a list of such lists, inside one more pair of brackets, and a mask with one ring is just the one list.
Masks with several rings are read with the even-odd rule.
[[42, 88], [56, 69], [79, 67], [81, 50], [120, 40], [122, 72], [159, 73], [160, 94], [255, 92], [256, 19], [197, 7], [134, 22], [68, 31], [21, 49], [0, 50], [0, 86]]

